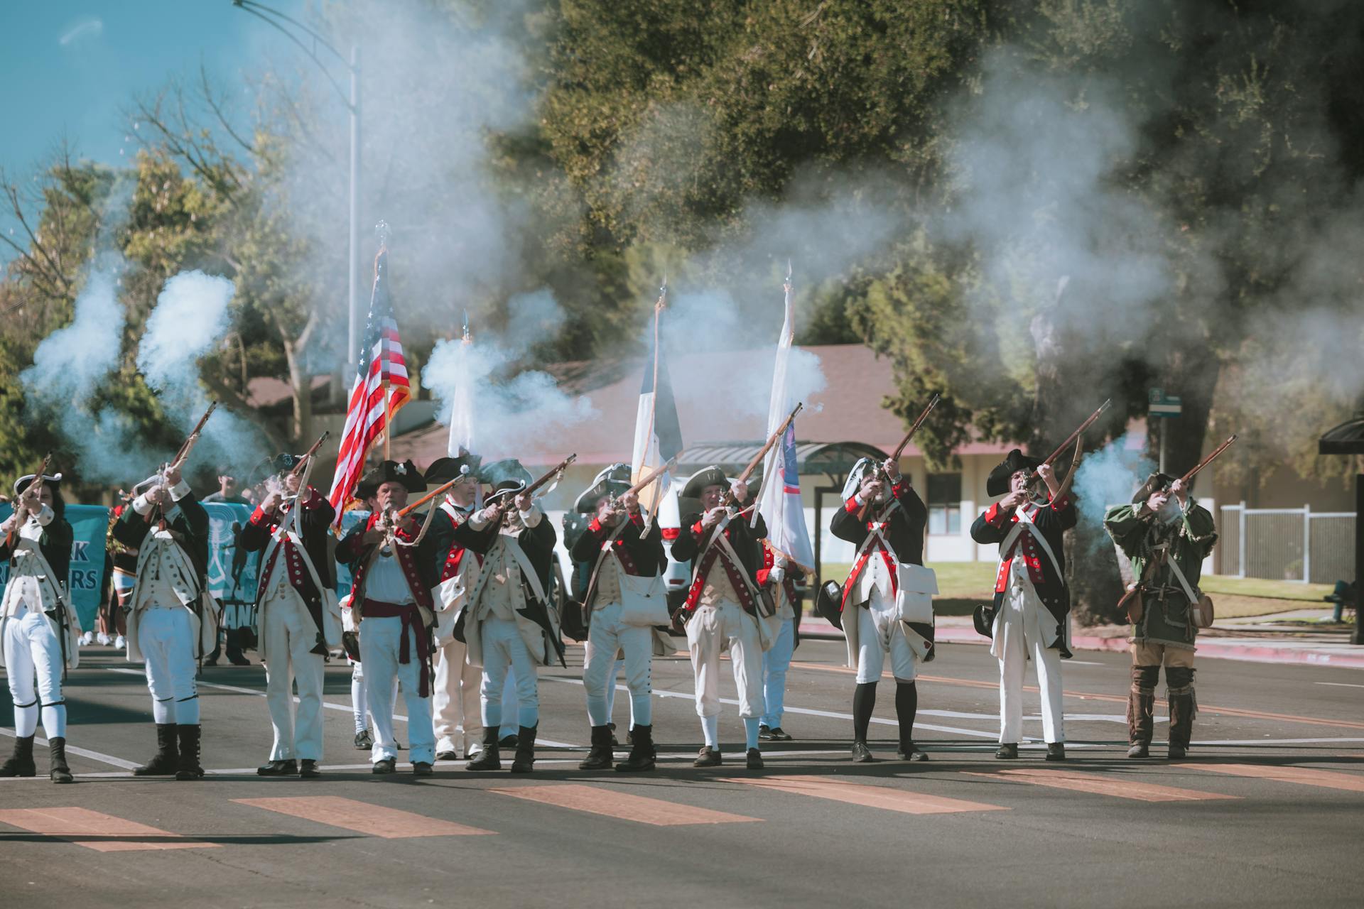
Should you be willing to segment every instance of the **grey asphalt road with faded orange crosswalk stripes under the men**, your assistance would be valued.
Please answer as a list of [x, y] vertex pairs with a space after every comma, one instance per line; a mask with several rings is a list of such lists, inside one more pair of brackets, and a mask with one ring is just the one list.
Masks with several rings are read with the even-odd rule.
[[[349, 669], [334, 665], [325, 775], [259, 778], [271, 741], [263, 671], [217, 666], [201, 687], [210, 775], [175, 782], [127, 773], [153, 751], [149, 695], [139, 666], [90, 649], [67, 687], [68, 741], [83, 752], [71, 754], [76, 785], [0, 780], [0, 899], [64, 909], [1361, 904], [1359, 671], [1204, 661], [1195, 747], [1170, 765], [1163, 744], [1161, 759], [1125, 759], [1127, 657], [1084, 653], [1064, 669], [1071, 759], [1043, 763], [1035, 745], [1001, 762], [997, 664], [985, 647], [948, 645], [919, 683], [917, 740], [932, 760], [893, 759], [887, 681], [873, 725], [884, 760], [853, 765], [843, 645], [806, 641], [783, 721], [795, 740], [765, 743], [767, 769], [747, 771], [732, 680], [722, 690], [726, 763], [696, 770], [690, 665], [659, 660], [660, 767], [626, 775], [577, 770], [588, 740], [581, 653], [570, 649], [567, 669], [542, 671], [542, 739], [574, 747], [543, 748], [532, 775], [471, 774], [462, 762], [420, 781], [404, 765], [371, 775], [352, 745]], [[0, 717], [8, 710], [5, 696]], [[623, 691], [615, 710], [623, 730]], [[1034, 700], [1024, 730], [1041, 736], [1035, 710]], [[1157, 714], [1163, 741], [1163, 705]], [[37, 758], [42, 770], [41, 745]]]

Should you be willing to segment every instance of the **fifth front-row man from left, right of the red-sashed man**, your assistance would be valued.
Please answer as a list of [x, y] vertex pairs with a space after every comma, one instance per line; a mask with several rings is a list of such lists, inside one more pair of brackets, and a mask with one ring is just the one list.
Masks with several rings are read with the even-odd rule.
[[502, 769], [502, 685], [513, 668], [520, 715], [512, 773], [531, 773], [540, 725], [536, 666], [563, 662], [558, 612], [550, 602], [558, 536], [539, 503], [525, 492], [531, 485], [525, 467], [512, 459], [496, 461], [483, 469], [483, 476], [492, 485], [488, 504], [453, 534], [456, 544], [483, 556], [462, 621], [456, 626], [456, 634], [462, 634], [469, 647], [469, 662], [483, 668], [483, 752], [465, 769]]

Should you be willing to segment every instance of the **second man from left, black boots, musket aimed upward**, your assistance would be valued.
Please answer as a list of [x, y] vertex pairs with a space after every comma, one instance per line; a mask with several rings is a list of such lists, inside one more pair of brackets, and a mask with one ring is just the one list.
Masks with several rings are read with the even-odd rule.
[[206, 594], [209, 512], [172, 465], [132, 489], [113, 536], [138, 551], [128, 611], [128, 660], [145, 661], [157, 724], [157, 754], [132, 773], [199, 780], [196, 661], [218, 639], [217, 604]]

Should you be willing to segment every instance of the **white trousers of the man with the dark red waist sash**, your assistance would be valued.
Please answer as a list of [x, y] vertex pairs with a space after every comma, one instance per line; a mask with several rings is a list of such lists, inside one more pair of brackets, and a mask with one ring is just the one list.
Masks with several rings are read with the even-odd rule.
[[[360, 623], [360, 662], [364, 665], [364, 696], [374, 717], [374, 748], [370, 760], [378, 763], [398, 756], [393, 737], [393, 681], [402, 685], [408, 706], [408, 759], [435, 763], [435, 729], [431, 725], [431, 698], [421, 696], [421, 660], [417, 657], [416, 628], [408, 632], [409, 662], [398, 662], [402, 619], [370, 616]], [[379, 710], [374, 710], [378, 706]]]

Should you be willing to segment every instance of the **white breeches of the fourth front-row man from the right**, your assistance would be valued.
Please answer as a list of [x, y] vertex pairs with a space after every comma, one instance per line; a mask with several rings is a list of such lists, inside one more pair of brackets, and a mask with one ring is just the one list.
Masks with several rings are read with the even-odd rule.
[[720, 650], [726, 643], [739, 691], [739, 715], [745, 720], [762, 715], [762, 646], [753, 616], [737, 602], [697, 606], [686, 623], [686, 638], [696, 673], [697, 715], [720, 715]]

